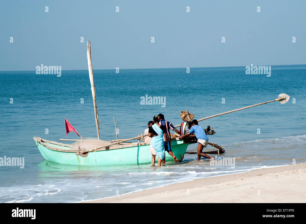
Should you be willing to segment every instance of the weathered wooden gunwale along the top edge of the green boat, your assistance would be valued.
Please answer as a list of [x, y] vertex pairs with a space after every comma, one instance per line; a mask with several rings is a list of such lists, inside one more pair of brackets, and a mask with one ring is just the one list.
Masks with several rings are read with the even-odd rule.
[[[68, 145], [71, 145], [71, 144], [59, 143], [59, 142], [55, 142], [55, 141], [48, 141], [46, 139], [42, 139], [40, 137], [35, 137], [35, 136], [33, 137], [33, 139], [34, 139], [34, 141], [36, 143], [39, 143], [40, 145], [46, 147], [47, 149], [53, 150], [53, 151], [57, 151], [57, 152], [70, 152], [70, 153], [77, 153], [77, 152], [79, 152], [79, 150], [56, 148], [56, 147], [53, 147], [53, 146], [49, 146], [46, 143], [57, 144], [59, 146], [68, 146]], [[177, 138], [171, 139], [171, 141], [180, 141], [180, 140], [177, 137]], [[75, 143], [73, 143], [73, 144], [75, 144]], [[128, 145], [114, 145], [114, 146], [108, 146], [108, 147], [104, 147], [104, 148], [101, 148], [101, 149], [97, 149], [96, 152], [98, 152], [98, 151], [115, 150], [115, 149], [124, 149], [124, 148], [130, 148], [130, 147], [135, 147], [135, 146], [145, 146], [145, 145], [150, 145], [150, 143], [148, 143], [148, 142], [137, 143], [136, 142], [136, 143], [131, 143], [131, 144], [128, 144]]]

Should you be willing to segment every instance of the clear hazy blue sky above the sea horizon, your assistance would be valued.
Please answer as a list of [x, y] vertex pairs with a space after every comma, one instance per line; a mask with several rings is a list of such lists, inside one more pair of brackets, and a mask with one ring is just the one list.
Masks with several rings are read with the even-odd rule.
[[93, 69], [306, 64], [305, 9], [306, 1], [1, 1], [0, 70], [88, 69], [86, 40]]

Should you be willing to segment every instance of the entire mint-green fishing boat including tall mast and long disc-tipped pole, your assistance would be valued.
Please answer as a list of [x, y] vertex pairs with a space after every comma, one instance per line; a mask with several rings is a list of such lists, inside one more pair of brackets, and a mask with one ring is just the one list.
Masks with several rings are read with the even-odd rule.
[[[95, 110], [95, 121], [97, 127], [98, 140], [100, 140], [99, 135], [99, 122], [98, 122], [98, 111], [95, 101], [95, 85], [93, 79], [92, 65], [91, 65], [91, 47], [90, 41], [88, 44], [87, 41], [87, 59], [88, 59], [88, 70], [89, 78], [91, 82], [91, 92], [93, 96], [94, 110]], [[280, 103], [286, 103], [289, 100], [289, 96], [285, 93], [279, 94], [277, 99], [267, 101], [264, 103], [254, 104], [248, 107], [243, 107], [237, 110], [227, 111], [221, 114], [215, 114], [209, 117], [204, 117], [197, 121], [203, 121], [211, 117], [216, 117], [228, 113], [232, 113], [239, 110], [244, 110], [250, 107], [255, 107], [265, 103], [271, 103], [274, 101], [279, 101]], [[187, 110], [187, 108], [186, 108]], [[190, 114], [189, 111], [181, 111], [181, 118], [184, 122], [175, 127], [180, 127], [181, 135], [188, 133], [191, 128], [191, 120], [193, 119], [194, 114]], [[114, 120], [115, 122], [115, 120]], [[116, 125], [116, 122], [115, 122]], [[207, 135], [213, 135], [216, 132], [210, 126], [207, 126], [204, 129]], [[33, 137], [36, 145], [43, 155], [43, 157], [52, 162], [61, 163], [61, 164], [71, 164], [71, 165], [89, 165], [89, 166], [108, 166], [108, 165], [132, 165], [132, 164], [149, 164], [151, 163], [151, 153], [150, 153], [150, 143], [144, 142], [144, 136], [142, 133], [134, 138], [129, 139], [117, 139], [104, 142], [100, 147], [95, 147], [92, 149], [81, 148], [80, 144], [84, 141], [81, 139], [60, 139], [63, 141], [74, 141], [72, 144], [64, 144], [55, 141], [49, 141], [39, 137]], [[138, 140], [137, 142], [129, 142], [131, 140]], [[143, 142], [140, 142], [142, 139]], [[188, 137], [183, 140], [179, 140], [177, 135], [171, 134], [171, 149], [175, 157], [179, 158], [179, 161], [182, 161], [184, 154], [186, 153], [187, 146], [189, 144], [196, 143], [197, 139], [195, 137]], [[215, 144], [208, 143], [209, 145], [215, 147], [217, 150], [204, 152], [206, 154], [222, 154], [225, 152], [223, 147]], [[78, 147], [77, 147], [78, 146]], [[188, 152], [187, 152], [188, 153]], [[196, 153], [195, 153], [196, 154]], [[156, 161], [157, 162], [157, 157]], [[173, 161], [173, 158], [166, 153], [166, 161]]]

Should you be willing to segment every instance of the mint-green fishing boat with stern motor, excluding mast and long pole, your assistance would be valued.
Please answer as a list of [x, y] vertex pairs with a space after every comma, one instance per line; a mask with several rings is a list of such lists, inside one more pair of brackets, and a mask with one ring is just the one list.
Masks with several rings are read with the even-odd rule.
[[[190, 128], [190, 121], [182, 122], [180, 126], [181, 133], [186, 134]], [[213, 135], [216, 133], [214, 129], [208, 128], [204, 129], [207, 135]], [[108, 166], [151, 163], [150, 142], [138, 141], [126, 143], [127, 141], [134, 139], [144, 139], [144, 136], [145, 135], [140, 135], [131, 139], [119, 139], [117, 141], [113, 140], [104, 142], [104, 146], [96, 147], [91, 150], [86, 150], [82, 147], [82, 142], [86, 141], [83, 138], [80, 140], [60, 139], [75, 141], [75, 143], [72, 144], [49, 141], [39, 137], [33, 137], [33, 139], [36, 142], [40, 153], [48, 161], [71, 165]], [[171, 134], [171, 149], [178, 161], [183, 160], [188, 145], [196, 142], [197, 139], [195, 137], [179, 140], [176, 135]], [[221, 146], [215, 143], [208, 144], [218, 150], [204, 152], [206, 154], [222, 154], [225, 152]], [[158, 157], [155, 158], [155, 163], [157, 163], [157, 160]], [[167, 161], [174, 161], [168, 153], [166, 153], [166, 162]]]

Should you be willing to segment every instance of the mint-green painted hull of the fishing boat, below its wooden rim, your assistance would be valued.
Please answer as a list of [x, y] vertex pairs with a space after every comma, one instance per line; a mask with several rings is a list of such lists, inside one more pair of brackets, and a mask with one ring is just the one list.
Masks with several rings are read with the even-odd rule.
[[[43, 157], [52, 162], [71, 165], [85, 165], [85, 166], [109, 166], [109, 165], [132, 165], [132, 164], [150, 164], [151, 153], [150, 145], [138, 145], [125, 147], [113, 150], [102, 150], [88, 153], [87, 157], [77, 155], [75, 152], [63, 152], [65, 146], [57, 146], [58, 151], [48, 149], [36, 141], [36, 145], [43, 155]], [[177, 159], [184, 156], [188, 144], [177, 140], [171, 143], [171, 149]], [[69, 147], [67, 147], [69, 148]], [[156, 156], [155, 162], [158, 157]], [[173, 158], [166, 152], [166, 161], [173, 161]]]

